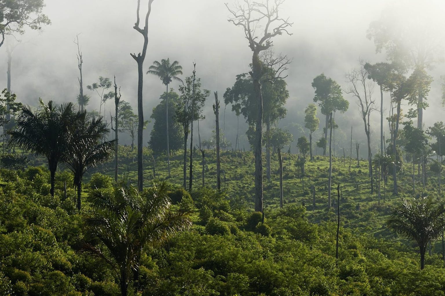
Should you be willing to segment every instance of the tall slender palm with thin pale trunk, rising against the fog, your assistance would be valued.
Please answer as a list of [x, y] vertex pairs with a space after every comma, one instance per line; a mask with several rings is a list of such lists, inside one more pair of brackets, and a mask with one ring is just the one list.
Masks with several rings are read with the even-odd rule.
[[166, 96], [166, 134], [167, 134], [167, 165], [168, 165], [168, 176], [170, 178], [170, 149], [168, 140], [168, 85], [172, 79], [177, 80], [181, 83], [182, 79], [178, 78], [177, 75], [182, 75], [182, 66], [179, 65], [178, 61], [174, 61], [170, 64], [170, 59], [161, 59], [161, 63], [154, 61], [153, 65], [150, 66], [147, 74], [153, 74], [158, 76], [162, 80], [162, 84], [167, 87]]

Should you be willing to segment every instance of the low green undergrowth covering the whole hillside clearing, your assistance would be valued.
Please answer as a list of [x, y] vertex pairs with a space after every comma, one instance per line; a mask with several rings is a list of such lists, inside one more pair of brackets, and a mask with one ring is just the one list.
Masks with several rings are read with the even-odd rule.
[[[122, 146], [120, 152], [117, 191], [131, 188], [136, 176], [132, 151]], [[144, 177], [154, 181], [151, 151], [145, 154]], [[172, 153], [170, 178], [165, 155], [155, 158], [157, 179], [170, 182], [166, 186], [173, 209], [189, 212], [193, 225], [160, 248], [149, 244], [142, 249], [129, 295], [444, 295], [441, 242], [431, 243], [421, 270], [417, 244], [395, 236], [385, 225], [392, 209], [405, 199], [416, 194], [441, 198], [432, 171], [427, 171], [425, 189], [419, 185], [415, 193], [408, 167], [398, 173], [398, 196], [391, 193], [391, 178], [386, 191], [382, 180], [379, 205], [377, 194], [370, 194], [367, 163], [357, 167], [352, 162], [349, 169], [348, 158], [345, 163], [334, 158], [332, 182], [341, 185], [342, 194], [336, 259], [337, 211], [327, 204], [327, 158], [315, 156], [305, 163], [303, 189], [299, 156], [283, 154], [284, 206], [279, 209], [278, 161], [272, 154], [263, 221], [262, 214], [252, 210], [253, 154], [222, 153], [226, 173], [220, 192], [213, 189], [214, 153], [207, 150], [206, 155], [208, 187], [197, 186], [201, 171], [195, 170], [197, 185], [191, 194], [181, 188], [181, 152]], [[201, 168], [200, 158], [194, 159]], [[32, 165], [40, 163], [31, 159]], [[79, 252], [97, 193], [115, 192], [113, 162], [99, 165], [97, 171], [101, 173], [91, 170], [85, 175], [79, 212], [69, 171], [57, 172], [52, 197], [50, 174], [43, 166], [0, 170], [2, 295], [121, 295], [113, 265]]]

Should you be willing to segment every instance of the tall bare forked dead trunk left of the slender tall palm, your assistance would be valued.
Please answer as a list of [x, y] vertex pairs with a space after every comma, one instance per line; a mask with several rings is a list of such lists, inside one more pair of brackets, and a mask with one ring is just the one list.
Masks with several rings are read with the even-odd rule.
[[138, 0], [138, 8], [136, 10], [136, 23], [134, 29], [141, 33], [144, 37], [144, 45], [142, 46], [142, 53], [130, 53], [133, 59], [138, 63], [138, 190], [142, 191], [143, 188], [143, 175], [142, 175], [142, 131], [144, 130], [144, 112], [142, 107], [142, 87], [143, 87], [143, 64], [147, 53], [148, 46], [148, 18], [151, 12], [151, 4], [154, 0], [148, 1], [148, 10], [145, 16], [144, 28], [140, 28], [140, 16], [139, 11], [141, 8], [141, 0]]

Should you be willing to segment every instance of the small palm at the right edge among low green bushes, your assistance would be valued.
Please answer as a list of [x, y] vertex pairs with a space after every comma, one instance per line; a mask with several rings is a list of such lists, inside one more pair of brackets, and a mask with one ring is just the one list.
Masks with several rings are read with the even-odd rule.
[[386, 221], [390, 230], [416, 241], [420, 248], [420, 268], [425, 266], [425, 251], [430, 241], [442, 235], [445, 229], [445, 206], [435, 204], [431, 197], [404, 201]]

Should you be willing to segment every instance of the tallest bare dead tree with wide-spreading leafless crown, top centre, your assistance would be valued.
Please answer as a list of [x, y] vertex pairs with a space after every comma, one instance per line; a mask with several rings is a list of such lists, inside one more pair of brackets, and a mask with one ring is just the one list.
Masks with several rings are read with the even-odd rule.
[[[235, 4], [235, 8], [226, 7], [231, 17], [228, 20], [235, 26], [244, 29], [244, 35], [249, 42], [252, 51], [252, 83], [255, 97], [257, 99], [257, 118], [255, 124], [255, 211], [263, 209], [263, 160], [262, 160], [262, 137], [263, 137], [263, 96], [261, 94], [260, 79], [263, 76], [262, 63], [259, 59], [261, 51], [272, 46], [275, 36], [288, 34], [287, 28], [292, 24], [288, 19], [279, 17], [279, 8], [284, 0], [266, 0], [259, 3], [253, 0], [243, 0]], [[269, 2], [272, 2], [270, 4]], [[255, 30], [261, 27], [261, 30]]]

